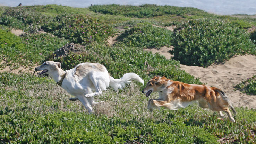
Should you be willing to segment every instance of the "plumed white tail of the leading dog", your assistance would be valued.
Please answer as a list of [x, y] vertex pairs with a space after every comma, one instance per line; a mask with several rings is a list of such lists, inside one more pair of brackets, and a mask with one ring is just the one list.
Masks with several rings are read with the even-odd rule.
[[137, 74], [135, 73], [126, 73], [123, 75], [122, 78], [120, 79], [114, 79], [113, 77], [109, 76], [110, 82], [109, 85], [114, 89], [123, 89], [125, 87], [125, 84], [129, 84], [131, 81], [130, 80], [135, 80], [144, 85], [144, 80], [140, 78]]

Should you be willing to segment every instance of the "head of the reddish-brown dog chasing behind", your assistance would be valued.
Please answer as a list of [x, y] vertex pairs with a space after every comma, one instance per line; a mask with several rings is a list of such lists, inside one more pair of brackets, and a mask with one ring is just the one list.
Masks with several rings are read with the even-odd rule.
[[148, 97], [152, 92], [163, 91], [170, 84], [170, 80], [165, 78], [164, 76], [154, 76], [151, 80], [147, 82], [147, 85], [142, 90], [142, 93], [145, 93], [146, 97]]

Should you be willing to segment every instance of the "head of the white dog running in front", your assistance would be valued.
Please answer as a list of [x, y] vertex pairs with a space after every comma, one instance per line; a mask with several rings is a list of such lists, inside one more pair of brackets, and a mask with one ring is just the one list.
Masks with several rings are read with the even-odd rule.
[[42, 65], [35, 68], [36, 71], [41, 71], [39, 75], [42, 74], [51, 74], [54, 73], [56, 70], [60, 69], [59, 62], [47, 61], [44, 62]]

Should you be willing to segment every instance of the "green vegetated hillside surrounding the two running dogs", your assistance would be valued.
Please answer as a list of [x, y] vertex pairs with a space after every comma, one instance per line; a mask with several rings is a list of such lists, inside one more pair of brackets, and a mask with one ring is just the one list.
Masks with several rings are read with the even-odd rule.
[[[245, 33], [246, 28], [255, 26], [254, 18], [218, 16], [195, 8], [156, 5], [2, 8], [0, 69], [7, 66], [33, 69], [43, 61], [53, 60], [61, 62], [62, 68], [67, 70], [78, 63], [99, 62], [114, 78], [135, 72], [145, 82], [154, 75], [165, 75], [172, 80], [201, 84], [199, 79], [180, 70], [179, 63], [207, 66], [232, 55], [255, 55], [254, 33]], [[163, 28], [171, 25], [177, 27], [173, 32]], [[22, 29], [26, 34], [15, 36], [9, 32], [11, 29]], [[38, 30], [48, 34], [39, 34]], [[119, 35], [116, 44], [107, 45], [106, 39], [114, 35]], [[59, 58], [52, 56], [70, 42], [82, 44], [85, 49]], [[163, 46], [174, 46], [171, 53], [175, 60], [143, 51]], [[140, 93], [142, 88], [135, 82], [125, 90], [104, 91], [95, 99], [106, 103], [95, 106], [95, 114], [88, 114], [79, 101], [69, 101], [71, 96], [55, 86], [50, 78], [3, 72], [0, 74], [0, 143], [256, 141], [256, 111], [253, 109], [236, 108], [236, 123], [227, 118], [219, 119], [216, 112], [196, 105], [177, 111], [161, 108], [151, 113], [146, 109], [148, 98]], [[157, 97], [157, 93], [153, 97]]]

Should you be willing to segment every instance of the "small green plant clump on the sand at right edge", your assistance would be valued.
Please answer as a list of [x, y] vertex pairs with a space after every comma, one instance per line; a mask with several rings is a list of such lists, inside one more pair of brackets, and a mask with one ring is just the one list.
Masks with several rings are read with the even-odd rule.
[[247, 93], [251, 95], [256, 95], [256, 75], [251, 78], [247, 78], [247, 80], [242, 81], [241, 83], [237, 84], [235, 88], [240, 90], [242, 93]]

